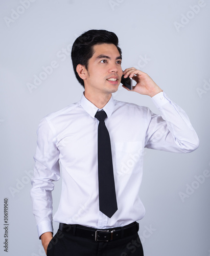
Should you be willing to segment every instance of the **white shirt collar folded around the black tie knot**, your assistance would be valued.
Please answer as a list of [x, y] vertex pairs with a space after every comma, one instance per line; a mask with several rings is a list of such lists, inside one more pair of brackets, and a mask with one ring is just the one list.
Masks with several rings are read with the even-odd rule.
[[[95, 106], [92, 102], [90, 102], [87, 98], [85, 98], [84, 93], [80, 99], [80, 105], [82, 108], [92, 117], [94, 118], [96, 112], [99, 110], [97, 106]], [[109, 118], [114, 110], [114, 99], [111, 96], [110, 100], [103, 107], [103, 110], [106, 112], [107, 117]]]

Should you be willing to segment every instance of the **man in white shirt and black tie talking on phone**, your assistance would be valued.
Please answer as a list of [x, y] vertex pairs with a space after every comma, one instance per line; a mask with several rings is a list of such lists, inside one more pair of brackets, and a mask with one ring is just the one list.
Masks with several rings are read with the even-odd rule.
[[[39, 238], [50, 256], [143, 255], [136, 221], [145, 214], [138, 196], [144, 147], [188, 153], [198, 147], [198, 137], [184, 111], [147, 74], [122, 71], [114, 33], [83, 33], [72, 61], [84, 94], [43, 118], [38, 129], [31, 197]], [[123, 74], [136, 81], [132, 91], [152, 97], [161, 115], [113, 100]], [[60, 169], [54, 220], [61, 224], [53, 237], [51, 192]]]

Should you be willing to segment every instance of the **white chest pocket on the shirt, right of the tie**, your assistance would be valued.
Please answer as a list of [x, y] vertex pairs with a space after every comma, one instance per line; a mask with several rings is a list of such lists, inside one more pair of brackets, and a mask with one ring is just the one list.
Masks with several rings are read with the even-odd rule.
[[143, 153], [141, 141], [115, 142], [116, 173], [123, 175], [139, 173]]

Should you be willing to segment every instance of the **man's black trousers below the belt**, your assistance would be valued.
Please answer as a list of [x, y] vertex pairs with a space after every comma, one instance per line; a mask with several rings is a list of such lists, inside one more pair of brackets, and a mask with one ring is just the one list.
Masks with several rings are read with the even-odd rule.
[[137, 232], [126, 238], [97, 242], [58, 229], [47, 256], [144, 256], [144, 252]]

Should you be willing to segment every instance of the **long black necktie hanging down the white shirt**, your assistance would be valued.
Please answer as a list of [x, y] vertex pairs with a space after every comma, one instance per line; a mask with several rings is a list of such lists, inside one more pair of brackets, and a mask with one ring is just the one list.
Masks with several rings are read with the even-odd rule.
[[99, 209], [103, 214], [111, 218], [114, 212], [118, 209], [118, 205], [116, 204], [110, 137], [104, 122], [107, 115], [104, 111], [98, 111], [95, 117], [99, 120]]

